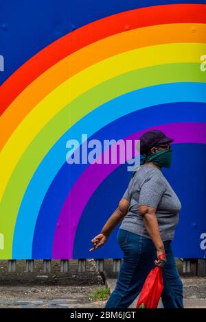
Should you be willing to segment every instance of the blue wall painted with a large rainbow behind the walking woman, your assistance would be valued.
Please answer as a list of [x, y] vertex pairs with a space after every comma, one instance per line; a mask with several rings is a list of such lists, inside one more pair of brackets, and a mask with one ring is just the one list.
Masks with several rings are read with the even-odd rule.
[[163, 169], [182, 203], [174, 255], [203, 258], [206, 0], [60, 3], [1, 8], [0, 259], [121, 258], [118, 227], [89, 249], [131, 173], [68, 164], [66, 143], [135, 140], [149, 129], [174, 138]]

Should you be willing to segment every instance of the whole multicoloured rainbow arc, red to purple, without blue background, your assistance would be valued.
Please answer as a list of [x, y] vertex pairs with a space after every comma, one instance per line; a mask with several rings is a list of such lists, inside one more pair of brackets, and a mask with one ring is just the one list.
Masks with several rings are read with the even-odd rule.
[[69, 166], [69, 138], [135, 139], [157, 128], [175, 146], [205, 146], [206, 5], [175, 2], [119, 4], [1, 85], [1, 258], [73, 258], [87, 203], [119, 164]]

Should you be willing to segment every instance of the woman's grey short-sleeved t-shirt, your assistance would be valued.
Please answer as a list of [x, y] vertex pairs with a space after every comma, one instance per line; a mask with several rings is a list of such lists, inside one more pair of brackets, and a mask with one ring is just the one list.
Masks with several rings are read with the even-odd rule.
[[122, 198], [130, 201], [130, 207], [119, 228], [151, 239], [138, 210], [139, 205], [146, 205], [156, 208], [162, 240], [174, 239], [181, 202], [161, 170], [142, 164], [130, 179]]

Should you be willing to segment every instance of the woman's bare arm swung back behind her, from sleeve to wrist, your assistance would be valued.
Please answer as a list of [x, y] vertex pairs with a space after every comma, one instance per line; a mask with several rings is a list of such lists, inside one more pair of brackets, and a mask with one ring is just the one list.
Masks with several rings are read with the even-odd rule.
[[126, 199], [122, 198], [119, 201], [118, 208], [113, 212], [108, 221], [106, 221], [104, 227], [102, 228], [101, 234], [104, 234], [108, 237], [127, 214], [129, 206], [130, 203]]

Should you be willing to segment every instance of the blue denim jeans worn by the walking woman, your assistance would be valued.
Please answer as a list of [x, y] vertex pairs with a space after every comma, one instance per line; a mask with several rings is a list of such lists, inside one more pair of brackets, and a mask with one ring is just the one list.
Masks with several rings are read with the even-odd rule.
[[[157, 259], [157, 250], [152, 239], [119, 228], [117, 241], [124, 252], [124, 258], [115, 290], [104, 308], [128, 308], [141, 292], [148, 273], [157, 267], [154, 263]], [[176, 268], [171, 241], [163, 242], [167, 262], [163, 266], [164, 288], [161, 300], [164, 308], [184, 308], [183, 282]]]

